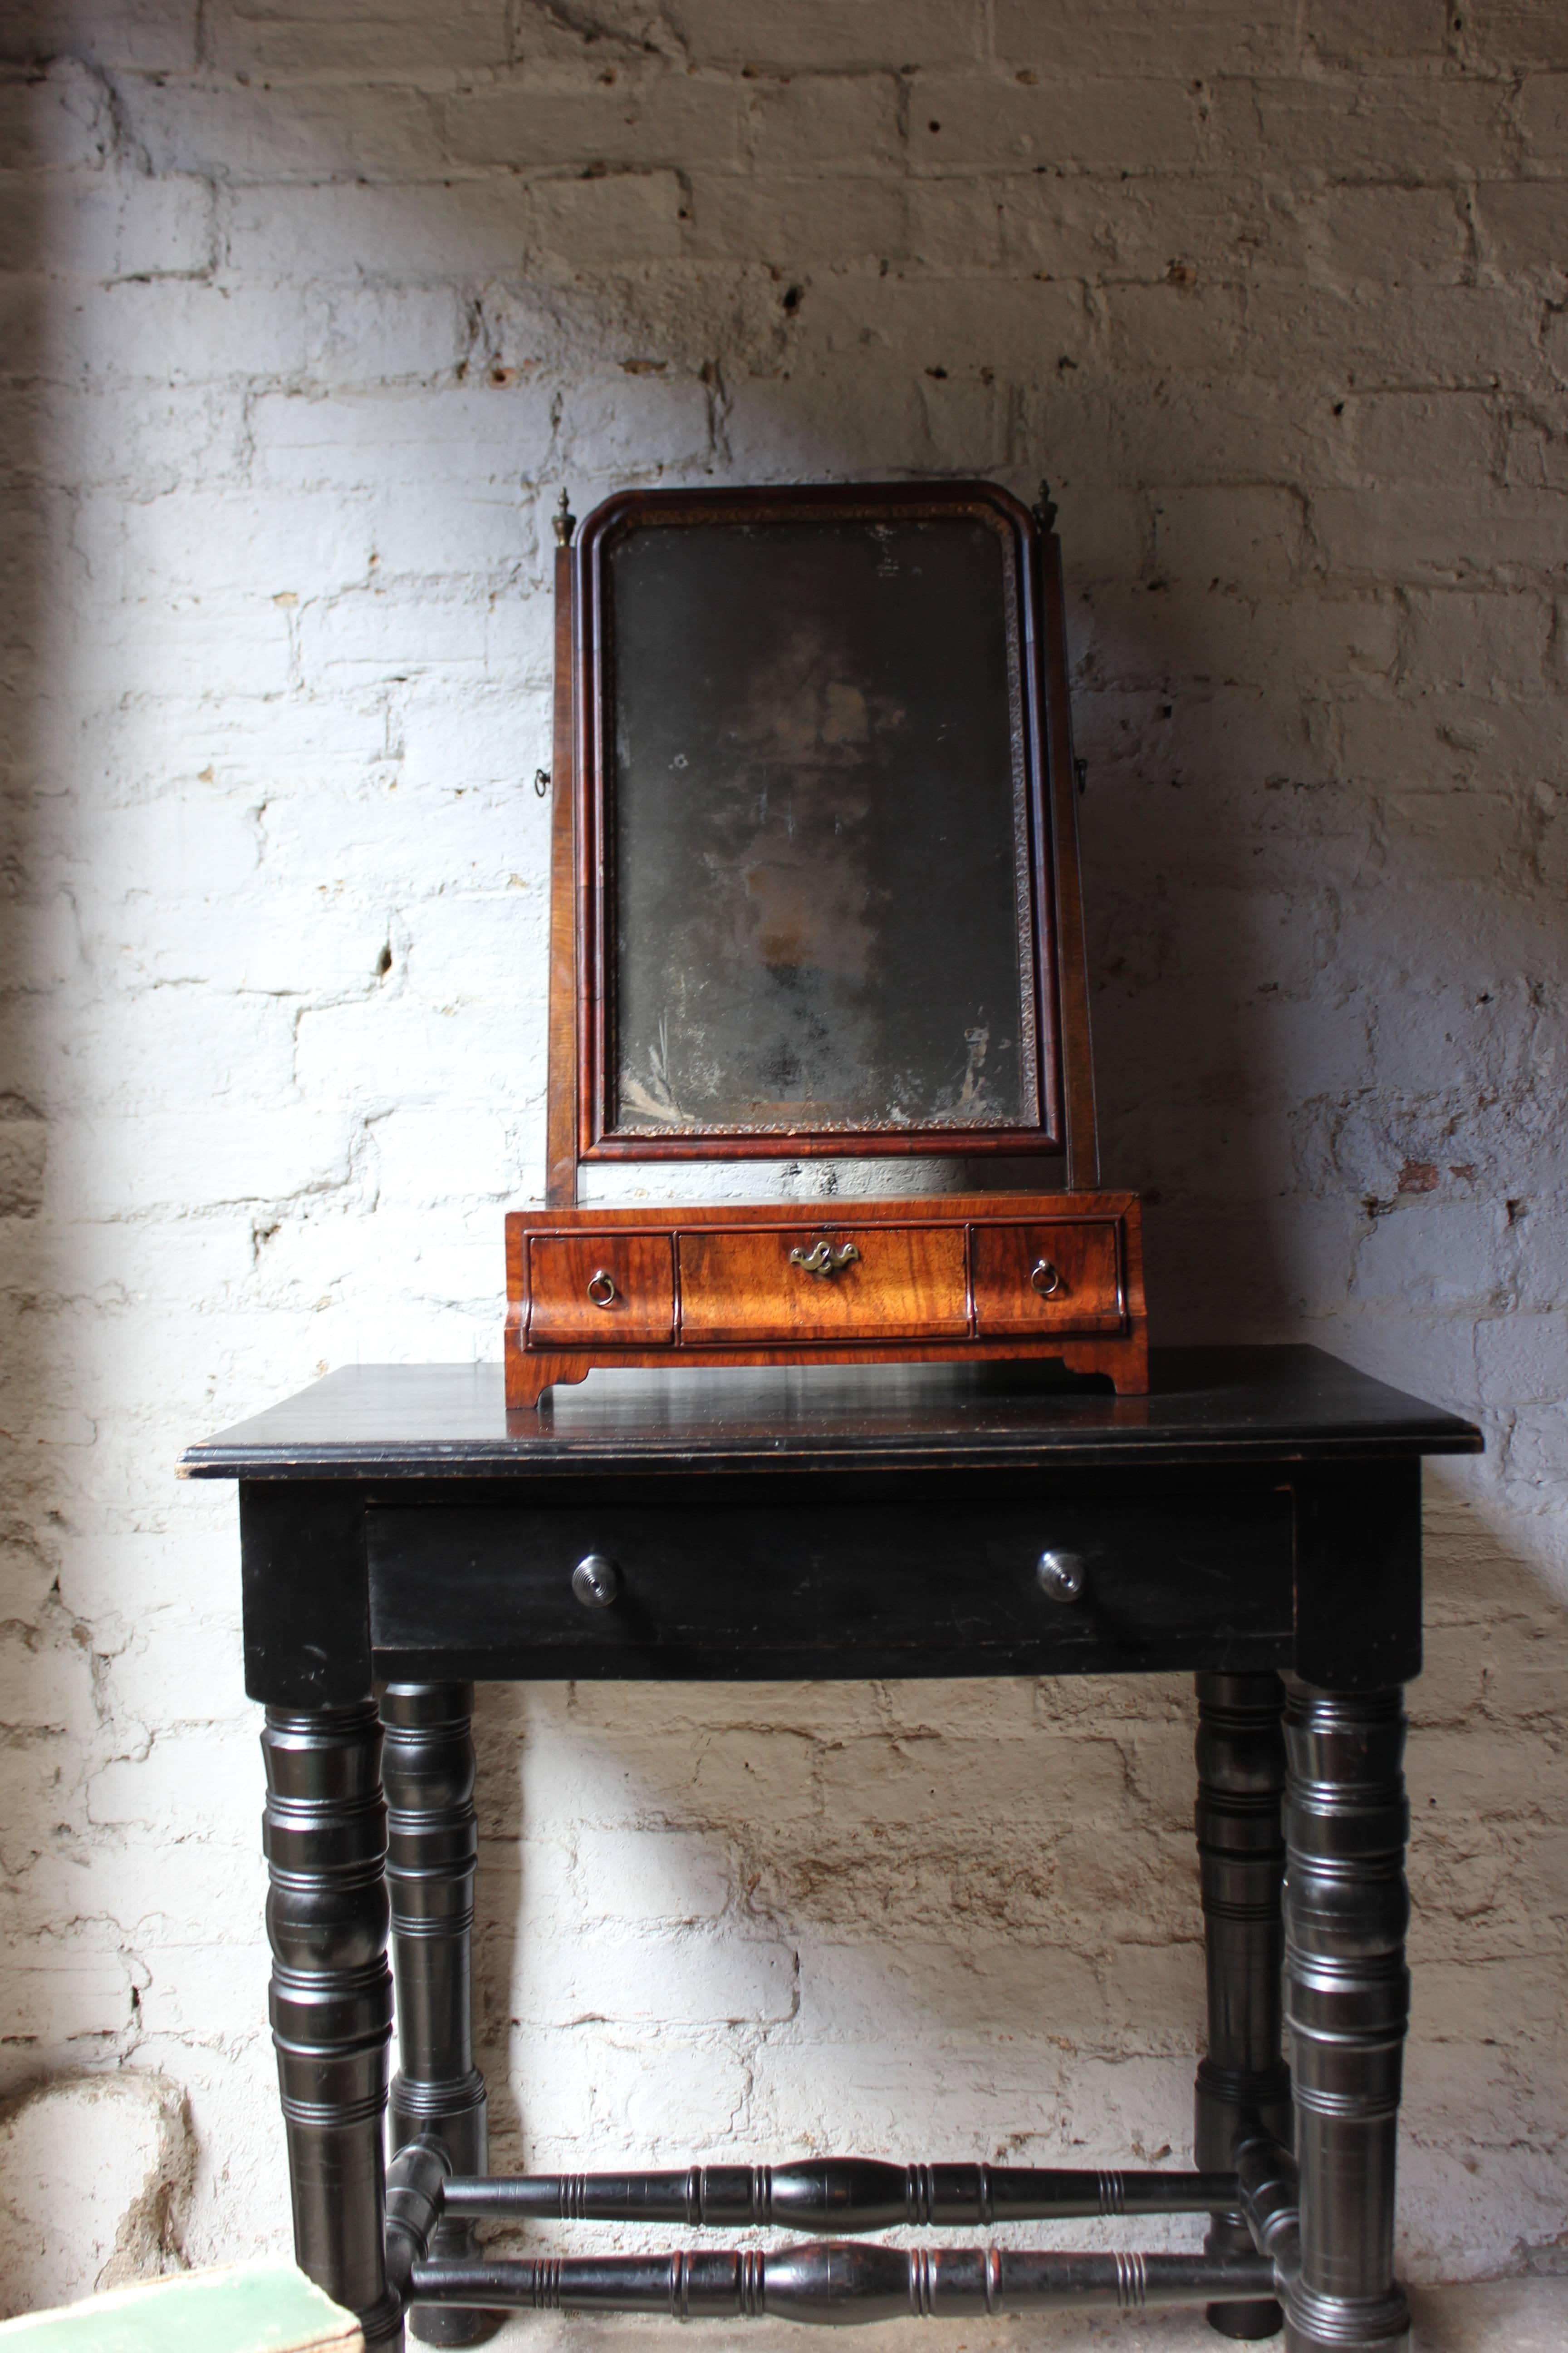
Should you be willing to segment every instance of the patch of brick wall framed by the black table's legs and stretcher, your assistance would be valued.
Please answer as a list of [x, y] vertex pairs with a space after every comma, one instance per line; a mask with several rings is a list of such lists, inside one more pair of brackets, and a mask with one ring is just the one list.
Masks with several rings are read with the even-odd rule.
[[489, 1689], [477, 1739], [508, 2160], [1185, 2148], [1185, 1680]]

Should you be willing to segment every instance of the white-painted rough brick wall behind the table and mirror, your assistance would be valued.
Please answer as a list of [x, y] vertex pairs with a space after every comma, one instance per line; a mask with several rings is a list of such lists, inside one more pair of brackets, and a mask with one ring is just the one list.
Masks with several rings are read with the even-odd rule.
[[[115, 2261], [287, 2233], [233, 1499], [172, 1466], [498, 1353], [548, 511], [943, 471], [1063, 501], [1157, 1337], [1486, 1424], [1429, 1480], [1403, 2261], [1561, 2261], [1566, 26], [0, 12], [0, 2082], [148, 2078]], [[1178, 1682], [487, 1694], [501, 2158], [1180, 2148], [1190, 1729]]]

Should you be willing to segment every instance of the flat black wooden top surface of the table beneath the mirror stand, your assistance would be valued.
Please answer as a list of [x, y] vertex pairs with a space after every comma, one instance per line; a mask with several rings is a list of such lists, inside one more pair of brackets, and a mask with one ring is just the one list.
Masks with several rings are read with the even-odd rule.
[[1481, 1433], [1321, 1348], [1157, 1348], [1152, 1393], [1041, 1365], [595, 1372], [508, 1414], [501, 1365], [353, 1365], [193, 1445], [183, 1478], [983, 1468], [1479, 1454]]

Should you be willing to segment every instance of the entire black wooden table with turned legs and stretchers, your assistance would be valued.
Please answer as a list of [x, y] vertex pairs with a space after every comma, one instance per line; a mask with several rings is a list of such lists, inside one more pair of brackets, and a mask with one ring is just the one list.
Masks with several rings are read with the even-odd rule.
[[[1213, 2297], [1232, 2337], [1269, 2334], [1279, 2289], [1302, 2353], [1403, 2344], [1401, 1685], [1420, 1673], [1420, 1457], [1481, 1438], [1316, 1348], [1159, 1351], [1154, 1367], [1150, 1398], [1051, 1367], [597, 1374], [508, 1419], [498, 1365], [376, 1365], [190, 1447], [186, 1475], [240, 1480], [296, 2254], [371, 2346], [402, 2341], [409, 2297], [416, 2334], [475, 2341], [487, 2289], [799, 2318]], [[475, 1680], [1166, 1668], [1190, 1668], [1199, 1694], [1199, 2174], [910, 2167], [898, 2217], [877, 2205], [886, 2167], [776, 2169], [771, 2186], [750, 2167], [484, 2179]], [[404, 2153], [383, 2240], [388, 1894]], [[442, 2202], [447, 2169], [461, 2179]], [[484, 2212], [860, 2231], [1070, 2214], [1093, 2209], [1084, 2179], [1105, 2212], [1211, 2212], [1208, 2254], [851, 2242], [487, 2266], [473, 2245]]]

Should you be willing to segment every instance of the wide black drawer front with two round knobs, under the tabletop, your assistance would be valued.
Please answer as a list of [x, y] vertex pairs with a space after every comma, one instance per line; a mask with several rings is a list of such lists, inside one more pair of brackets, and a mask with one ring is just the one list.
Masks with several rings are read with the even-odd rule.
[[[378, 1673], [858, 1678], [1291, 1657], [1286, 1489], [1206, 1501], [371, 1506]], [[1041, 1553], [1081, 1593], [1044, 1591]], [[588, 1555], [614, 1598], [574, 1593]], [[416, 1664], [423, 1661], [423, 1668]]]

